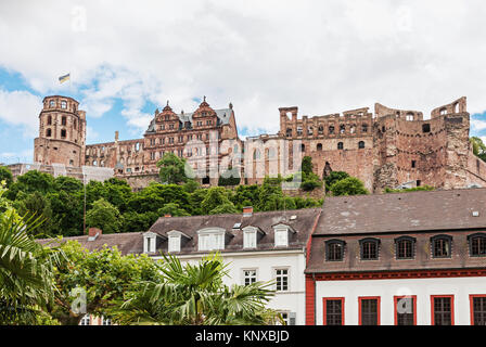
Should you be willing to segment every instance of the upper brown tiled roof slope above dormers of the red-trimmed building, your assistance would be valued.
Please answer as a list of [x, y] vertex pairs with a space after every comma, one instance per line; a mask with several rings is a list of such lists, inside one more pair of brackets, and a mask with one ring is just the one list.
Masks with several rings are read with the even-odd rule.
[[[478, 211], [478, 217], [473, 217]], [[486, 227], [486, 189], [336, 196], [324, 201], [316, 235]]]

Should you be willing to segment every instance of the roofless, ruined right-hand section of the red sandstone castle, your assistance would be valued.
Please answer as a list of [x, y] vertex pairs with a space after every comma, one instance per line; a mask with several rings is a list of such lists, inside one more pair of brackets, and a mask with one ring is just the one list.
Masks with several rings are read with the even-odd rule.
[[[297, 117], [297, 107], [282, 107], [280, 131], [252, 140], [264, 142], [261, 170], [280, 167], [273, 146], [279, 140], [299, 141], [303, 155], [312, 157], [321, 178], [334, 171], [358, 177], [372, 192], [384, 188], [432, 185], [453, 189], [486, 185], [486, 163], [474, 156], [469, 141], [470, 115], [466, 99], [434, 108], [430, 119], [410, 110], [375, 104], [324, 116]], [[289, 114], [291, 117], [289, 117]], [[254, 169], [254, 168], [250, 168]], [[274, 172], [273, 172], [274, 174]], [[255, 175], [253, 176], [255, 177]], [[252, 178], [250, 183], [261, 179]]]

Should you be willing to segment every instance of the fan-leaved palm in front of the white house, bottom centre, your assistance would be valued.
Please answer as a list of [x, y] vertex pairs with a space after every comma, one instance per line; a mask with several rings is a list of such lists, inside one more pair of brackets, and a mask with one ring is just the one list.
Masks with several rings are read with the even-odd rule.
[[280, 314], [266, 308], [273, 296], [272, 283], [223, 284], [227, 265], [219, 255], [197, 265], [182, 266], [175, 256], [165, 256], [163, 283], [148, 282], [143, 290], [113, 312], [120, 324], [238, 325], [269, 324]]

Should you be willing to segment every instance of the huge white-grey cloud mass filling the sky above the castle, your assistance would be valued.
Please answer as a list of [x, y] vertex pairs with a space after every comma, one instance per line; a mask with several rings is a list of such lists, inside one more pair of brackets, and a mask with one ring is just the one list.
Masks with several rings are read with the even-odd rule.
[[[475, 113], [486, 110], [485, 15], [479, 0], [1, 2], [0, 66], [42, 94], [88, 85], [88, 117], [122, 98], [136, 129], [144, 101], [190, 112], [204, 94], [215, 108], [231, 101], [250, 132], [278, 130], [278, 107], [291, 105], [426, 115], [466, 95]], [[59, 85], [67, 72], [72, 86]]]

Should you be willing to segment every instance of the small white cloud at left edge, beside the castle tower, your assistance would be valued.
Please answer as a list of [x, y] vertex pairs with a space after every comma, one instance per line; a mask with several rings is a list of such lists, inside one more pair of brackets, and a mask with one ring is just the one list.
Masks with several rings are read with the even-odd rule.
[[42, 99], [28, 91], [7, 91], [0, 88], [0, 119], [25, 127], [26, 136], [38, 131], [38, 116]]

